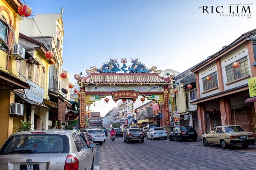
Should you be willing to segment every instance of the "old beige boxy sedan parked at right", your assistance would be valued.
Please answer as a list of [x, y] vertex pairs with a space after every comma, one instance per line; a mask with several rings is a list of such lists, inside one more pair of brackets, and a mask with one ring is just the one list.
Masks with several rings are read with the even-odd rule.
[[255, 135], [238, 125], [215, 126], [209, 133], [202, 135], [202, 140], [204, 146], [221, 144], [226, 149], [229, 144], [241, 144], [243, 148], [247, 148], [250, 143], [255, 142]]

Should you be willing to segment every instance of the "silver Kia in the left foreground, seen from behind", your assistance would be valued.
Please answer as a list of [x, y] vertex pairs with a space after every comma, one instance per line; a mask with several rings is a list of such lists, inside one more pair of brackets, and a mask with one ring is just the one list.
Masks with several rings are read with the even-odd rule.
[[[76, 130], [32, 130], [9, 136], [0, 149], [1, 170], [93, 168], [93, 152]], [[58, 163], [56, 163], [58, 162]], [[31, 168], [32, 167], [32, 168]]]

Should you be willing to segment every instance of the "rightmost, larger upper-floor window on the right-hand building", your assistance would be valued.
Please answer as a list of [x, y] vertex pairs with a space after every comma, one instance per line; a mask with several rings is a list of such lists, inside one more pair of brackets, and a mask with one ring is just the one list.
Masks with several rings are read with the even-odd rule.
[[239, 59], [236, 62], [239, 62], [239, 68], [233, 68], [233, 63], [226, 67], [227, 82], [232, 82], [236, 79], [250, 75], [247, 57]]

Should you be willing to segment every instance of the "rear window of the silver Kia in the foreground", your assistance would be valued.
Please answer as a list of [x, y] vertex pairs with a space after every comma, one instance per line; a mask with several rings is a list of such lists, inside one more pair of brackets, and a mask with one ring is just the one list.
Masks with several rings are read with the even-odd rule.
[[69, 139], [57, 134], [15, 135], [0, 150], [0, 155], [21, 153], [69, 153]]

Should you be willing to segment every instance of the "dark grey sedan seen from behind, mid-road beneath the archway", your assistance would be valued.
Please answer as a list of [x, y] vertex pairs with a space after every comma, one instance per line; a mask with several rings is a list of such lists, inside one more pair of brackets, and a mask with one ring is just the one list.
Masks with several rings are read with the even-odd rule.
[[131, 142], [131, 141], [140, 141], [144, 142], [144, 133], [140, 131], [140, 129], [127, 129], [126, 132], [124, 133], [124, 142]]

